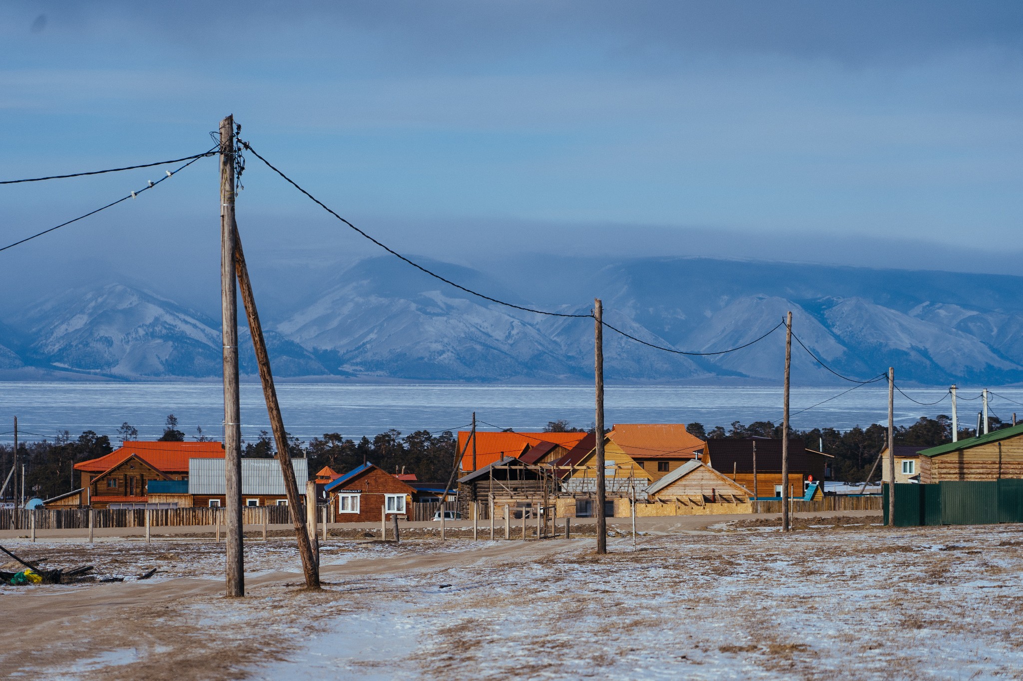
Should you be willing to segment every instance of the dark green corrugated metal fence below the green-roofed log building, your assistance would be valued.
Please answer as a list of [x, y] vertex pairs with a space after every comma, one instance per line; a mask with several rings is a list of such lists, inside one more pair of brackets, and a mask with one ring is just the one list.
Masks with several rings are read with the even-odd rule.
[[[888, 485], [882, 489], [888, 524]], [[1023, 480], [895, 485], [896, 527], [1023, 523]]]

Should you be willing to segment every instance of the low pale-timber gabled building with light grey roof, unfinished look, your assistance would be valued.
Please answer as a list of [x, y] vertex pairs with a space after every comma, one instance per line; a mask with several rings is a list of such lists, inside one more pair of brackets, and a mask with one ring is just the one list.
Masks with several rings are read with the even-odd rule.
[[713, 513], [752, 512], [750, 490], [696, 458], [653, 483], [646, 492], [648, 504], [670, 504], [670, 510], [642, 513], [637, 507], [637, 515], [709, 513], [708, 505]]

